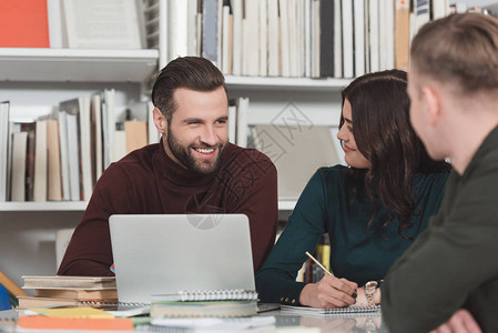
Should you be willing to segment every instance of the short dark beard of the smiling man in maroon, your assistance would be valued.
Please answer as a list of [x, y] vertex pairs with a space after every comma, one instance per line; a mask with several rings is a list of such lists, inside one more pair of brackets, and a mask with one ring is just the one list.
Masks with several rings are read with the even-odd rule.
[[[190, 144], [189, 147], [183, 147], [179, 140], [176, 140], [176, 138], [173, 135], [171, 129], [167, 129], [167, 147], [170, 148], [170, 151], [173, 153], [173, 155], [176, 158], [176, 160], [179, 160], [186, 169], [199, 173], [199, 174], [204, 174], [204, 175], [209, 175], [214, 173], [218, 168], [220, 168], [220, 161], [221, 161], [221, 155], [222, 155], [222, 151], [225, 148], [224, 144], [218, 143], [215, 145], [209, 145], [209, 144], [202, 144], [202, 145], [195, 145], [195, 144]], [[216, 152], [216, 158], [213, 160], [204, 160], [204, 161], [200, 161], [196, 160], [193, 155], [192, 155], [192, 148], [205, 148], [205, 149], [217, 149]]]

